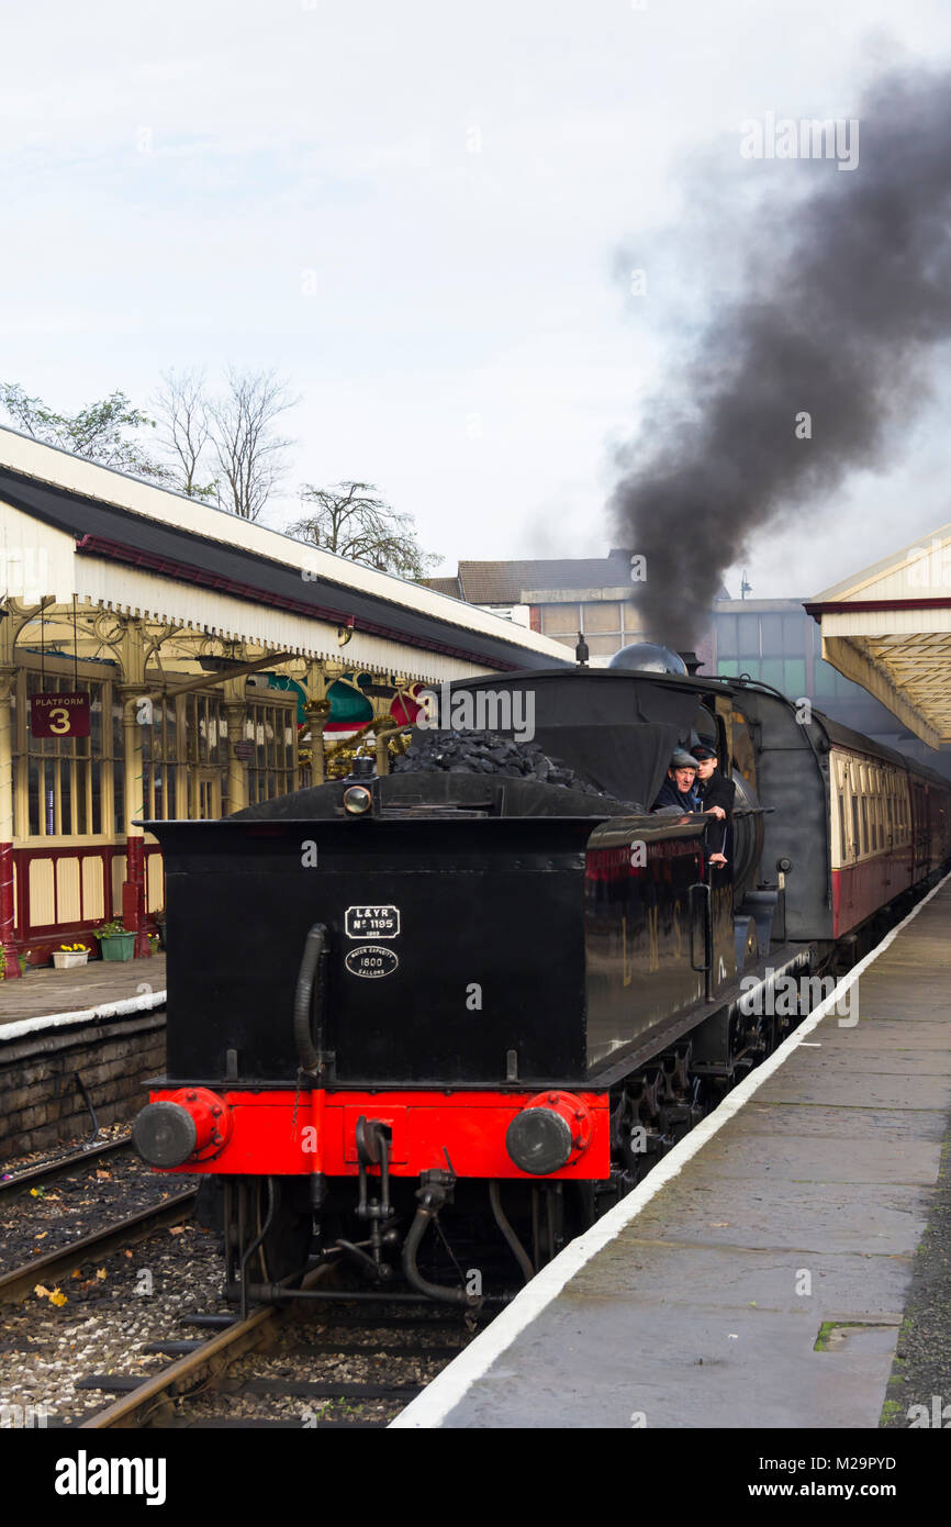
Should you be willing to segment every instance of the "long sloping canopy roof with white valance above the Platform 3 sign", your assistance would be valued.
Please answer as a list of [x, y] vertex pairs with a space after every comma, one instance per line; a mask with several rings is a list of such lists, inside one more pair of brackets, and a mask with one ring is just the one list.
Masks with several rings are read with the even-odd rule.
[[[443, 681], [562, 666], [565, 646], [459, 599], [0, 429], [0, 618], [20, 647], [104, 652], [136, 620], [162, 660], [290, 654]], [[347, 649], [343, 654], [343, 647]], [[342, 661], [343, 660], [343, 661]]]

